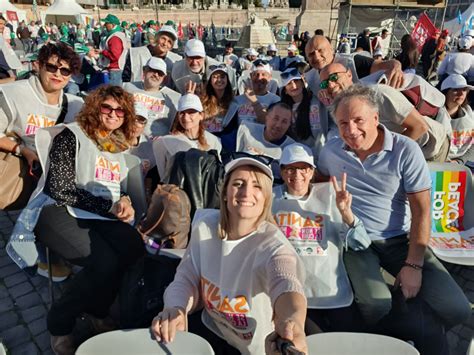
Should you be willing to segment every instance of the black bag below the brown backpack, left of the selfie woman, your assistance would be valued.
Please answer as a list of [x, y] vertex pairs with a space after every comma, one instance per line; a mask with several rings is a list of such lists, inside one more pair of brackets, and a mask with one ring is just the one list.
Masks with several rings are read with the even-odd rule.
[[119, 292], [122, 329], [148, 328], [163, 310], [163, 294], [181, 259], [146, 255], [125, 273]]

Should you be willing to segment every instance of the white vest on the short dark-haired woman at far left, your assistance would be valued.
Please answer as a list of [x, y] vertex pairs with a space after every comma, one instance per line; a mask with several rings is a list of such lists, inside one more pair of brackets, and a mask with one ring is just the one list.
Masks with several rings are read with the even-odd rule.
[[[39, 79], [31, 77], [0, 86], [0, 106], [10, 121], [7, 131], [16, 132], [26, 146], [34, 151], [36, 132], [40, 128], [56, 124], [62, 104], [62, 92], [59, 105], [49, 105], [42, 100], [41, 93], [36, 91], [37, 85], [41, 85]], [[66, 94], [66, 97], [68, 106], [64, 123], [74, 121], [83, 104], [82, 99], [77, 96]]]

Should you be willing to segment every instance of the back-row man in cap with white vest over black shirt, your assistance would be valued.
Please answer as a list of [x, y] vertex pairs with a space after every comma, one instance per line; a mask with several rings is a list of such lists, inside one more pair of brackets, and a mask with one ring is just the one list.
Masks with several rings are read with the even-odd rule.
[[125, 65], [123, 81], [142, 80], [142, 68], [151, 57], [157, 57], [166, 63], [166, 75], [168, 76], [165, 85], [171, 87], [171, 70], [175, 62], [182, 59], [179, 54], [172, 52], [174, 44], [178, 40], [178, 35], [173, 26], [163, 25], [156, 33], [155, 44], [136, 47], [130, 49], [130, 56]]

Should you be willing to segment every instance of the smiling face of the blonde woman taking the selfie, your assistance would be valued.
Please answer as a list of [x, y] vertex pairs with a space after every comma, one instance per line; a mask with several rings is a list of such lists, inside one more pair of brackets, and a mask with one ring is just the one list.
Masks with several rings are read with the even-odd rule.
[[227, 211], [230, 220], [255, 225], [265, 206], [265, 195], [257, 181], [255, 168], [241, 166], [230, 176], [226, 189]]

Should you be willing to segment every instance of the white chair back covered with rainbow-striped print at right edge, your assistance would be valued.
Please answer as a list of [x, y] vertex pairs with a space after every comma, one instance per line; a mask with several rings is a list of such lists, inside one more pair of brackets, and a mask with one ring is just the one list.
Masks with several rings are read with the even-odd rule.
[[461, 242], [469, 243], [467, 238], [474, 235], [474, 213], [469, 210], [474, 206], [471, 170], [456, 163], [428, 163], [428, 167], [432, 179], [430, 247], [441, 260], [474, 265], [474, 250], [461, 247]]

